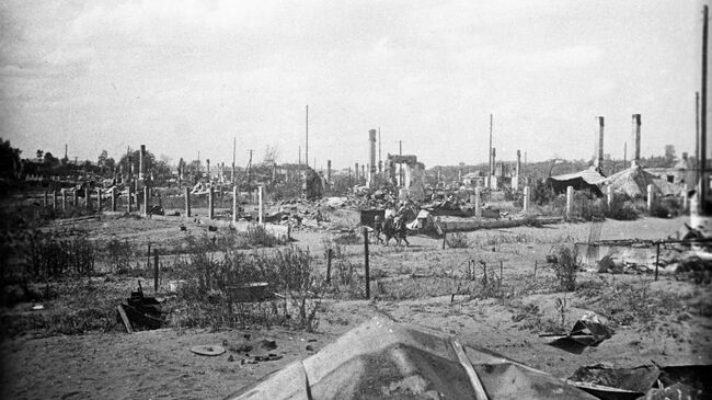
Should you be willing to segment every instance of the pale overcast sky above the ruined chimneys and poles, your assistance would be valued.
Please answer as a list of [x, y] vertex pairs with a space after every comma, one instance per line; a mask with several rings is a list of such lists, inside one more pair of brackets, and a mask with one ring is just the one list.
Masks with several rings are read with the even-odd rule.
[[[2, 1], [0, 137], [96, 160], [146, 144], [177, 162], [382, 152], [426, 168], [694, 149], [702, 1]], [[303, 159], [303, 156], [302, 156]]]

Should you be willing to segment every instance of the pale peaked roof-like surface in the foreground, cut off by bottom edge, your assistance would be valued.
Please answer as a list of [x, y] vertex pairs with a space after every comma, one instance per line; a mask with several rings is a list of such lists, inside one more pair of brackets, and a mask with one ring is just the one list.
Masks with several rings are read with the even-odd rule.
[[443, 333], [374, 318], [229, 399], [596, 399]]

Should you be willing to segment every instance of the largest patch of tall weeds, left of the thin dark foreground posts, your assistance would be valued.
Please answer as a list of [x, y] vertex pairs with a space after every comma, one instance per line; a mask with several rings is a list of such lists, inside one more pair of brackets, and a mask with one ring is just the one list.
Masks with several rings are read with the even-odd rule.
[[[174, 268], [188, 282], [175, 305], [177, 325], [273, 324], [313, 330], [321, 305], [321, 277], [308, 250], [244, 253], [208, 237], [192, 238], [188, 254]], [[266, 284], [254, 298], [250, 284]], [[245, 299], [245, 296], [248, 297]]]

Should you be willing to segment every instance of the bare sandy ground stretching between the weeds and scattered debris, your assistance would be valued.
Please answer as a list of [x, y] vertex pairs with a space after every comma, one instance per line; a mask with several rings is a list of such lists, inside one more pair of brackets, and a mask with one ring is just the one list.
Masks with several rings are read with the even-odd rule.
[[[674, 235], [685, 218], [641, 218], [636, 221], [606, 221], [600, 239], [662, 239]], [[95, 238], [128, 239], [145, 245], [180, 242], [181, 236], [208, 233], [209, 224], [194, 220], [179, 224], [137, 218], [83, 221], [74, 228]], [[712, 358], [712, 290], [709, 285], [651, 274], [611, 275], [581, 272], [578, 287], [564, 293], [555, 279], [547, 255], [562, 243], [586, 241], [589, 224], [560, 224], [542, 228], [518, 227], [475, 231], [466, 235], [469, 245], [441, 249], [441, 240], [410, 238], [411, 247], [371, 244], [371, 300], [330, 296], [319, 312], [315, 332], [282, 328], [251, 330], [162, 329], [127, 334], [115, 328], [107, 332], [37, 338], [27, 332], [0, 344], [3, 399], [205, 399], [222, 398], [255, 382], [282, 366], [309, 356], [335, 338], [374, 316], [387, 316], [404, 323], [422, 324], [460, 338], [463, 342], [498, 352], [535, 368], [565, 378], [577, 367], [597, 363], [617, 366], [650, 364], [710, 364]], [[323, 272], [324, 239], [338, 233], [299, 230], [295, 245], [309, 248]], [[363, 243], [345, 245], [346, 258], [363, 275]], [[505, 289], [494, 296], [459, 294], [438, 281], [452, 276], [475, 261], [499, 274]], [[535, 277], [535, 263], [538, 272]], [[135, 278], [125, 283], [126, 296]], [[149, 279], [145, 286], [149, 287]], [[450, 284], [452, 281], [449, 281]], [[161, 283], [162, 287], [166, 285]], [[556, 308], [558, 299], [566, 306]], [[633, 300], [636, 302], [633, 304]], [[639, 307], [617, 309], [630, 301]], [[559, 301], [561, 302], [561, 300]], [[32, 312], [20, 304], [7, 312]], [[620, 305], [625, 306], [625, 305]], [[50, 305], [47, 305], [50, 307]], [[616, 333], [597, 347], [571, 354], [549, 346], [546, 333], [551, 325], [571, 327], [585, 312], [596, 311]], [[608, 313], [608, 315], [606, 315]], [[641, 317], [642, 316], [642, 317]], [[563, 321], [562, 321], [563, 318]], [[245, 338], [250, 335], [250, 339]], [[277, 347], [264, 348], [261, 339], [274, 339]], [[234, 348], [254, 344], [250, 357]], [[219, 356], [193, 354], [194, 345], [223, 345]], [[272, 361], [244, 361], [274, 354]]]

